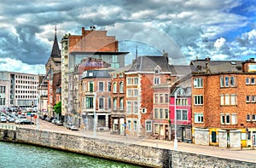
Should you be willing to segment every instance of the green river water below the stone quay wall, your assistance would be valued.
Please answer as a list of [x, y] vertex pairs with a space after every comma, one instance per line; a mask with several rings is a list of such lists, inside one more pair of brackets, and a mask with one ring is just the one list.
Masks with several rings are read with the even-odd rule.
[[51, 148], [0, 142], [0, 168], [137, 168], [108, 159], [98, 159]]

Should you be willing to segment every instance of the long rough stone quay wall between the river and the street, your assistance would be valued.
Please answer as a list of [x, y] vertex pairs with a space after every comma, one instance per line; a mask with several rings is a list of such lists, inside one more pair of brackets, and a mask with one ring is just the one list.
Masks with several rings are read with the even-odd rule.
[[24, 142], [146, 167], [256, 167], [255, 163], [164, 148], [17, 127], [0, 130], [0, 140]]

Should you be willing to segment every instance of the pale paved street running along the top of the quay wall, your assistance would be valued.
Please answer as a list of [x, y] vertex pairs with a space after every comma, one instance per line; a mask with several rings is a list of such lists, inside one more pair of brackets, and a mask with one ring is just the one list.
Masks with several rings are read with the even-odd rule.
[[[36, 129], [36, 125], [22, 125], [23, 127], [29, 127]], [[61, 133], [67, 133], [72, 135], [93, 137], [93, 131], [88, 130], [67, 130], [64, 126], [57, 126], [51, 124], [47, 121], [39, 119], [39, 130], [49, 130], [56, 131]], [[105, 139], [109, 141], [116, 142], [125, 142], [127, 144], [139, 144], [144, 146], [150, 146], [155, 148], [168, 148], [173, 149], [173, 142], [163, 141], [163, 140], [154, 140], [154, 139], [144, 139], [139, 137], [131, 136], [117, 136], [111, 135], [109, 132], [96, 132], [96, 138]], [[210, 156], [216, 156], [225, 159], [237, 159], [248, 162], [253, 162], [256, 164], [256, 150], [244, 148], [241, 149], [227, 149], [227, 148], [218, 148], [212, 146], [202, 146], [185, 142], [178, 142], [178, 151], [189, 152], [194, 154], [205, 154]], [[256, 166], [256, 165], [255, 165]]]

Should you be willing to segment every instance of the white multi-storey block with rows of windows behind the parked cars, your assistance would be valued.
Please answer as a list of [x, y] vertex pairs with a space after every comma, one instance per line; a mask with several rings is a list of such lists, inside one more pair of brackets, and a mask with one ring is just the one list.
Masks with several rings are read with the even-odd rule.
[[38, 75], [0, 71], [0, 107], [38, 107]]

